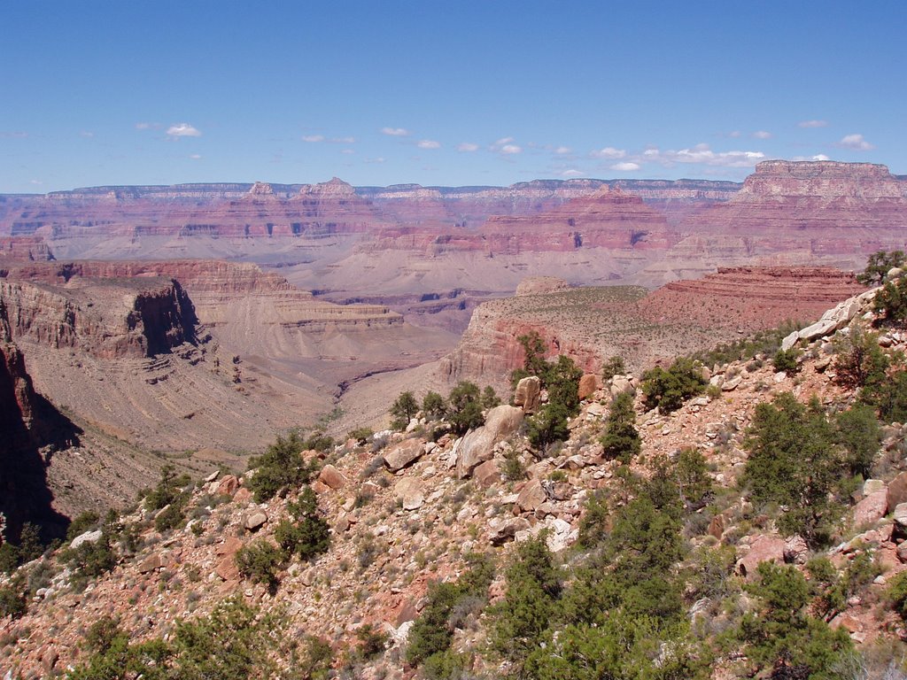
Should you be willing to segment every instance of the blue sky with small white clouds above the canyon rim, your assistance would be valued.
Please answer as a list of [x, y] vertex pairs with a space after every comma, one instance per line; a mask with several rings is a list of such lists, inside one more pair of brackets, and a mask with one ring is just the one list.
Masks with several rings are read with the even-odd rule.
[[907, 3], [0, 0], [0, 192], [907, 173]]

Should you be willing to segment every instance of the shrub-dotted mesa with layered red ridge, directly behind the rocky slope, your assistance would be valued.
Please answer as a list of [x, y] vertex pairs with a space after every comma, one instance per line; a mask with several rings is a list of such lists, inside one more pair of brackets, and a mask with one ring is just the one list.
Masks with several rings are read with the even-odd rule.
[[[532, 282], [530, 282], [532, 284]], [[526, 288], [532, 291], [532, 285]], [[477, 307], [440, 373], [505, 387], [524, 360], [520, 335], [541, 335], [549, 355], [598, 373], [610, 356], [639, 372], [669, 357], [733, 341], [742, 333], [808, 320], [864, 290], [831, 267], [737, 267], [647, 293], [639, 287], [531, 292]]]

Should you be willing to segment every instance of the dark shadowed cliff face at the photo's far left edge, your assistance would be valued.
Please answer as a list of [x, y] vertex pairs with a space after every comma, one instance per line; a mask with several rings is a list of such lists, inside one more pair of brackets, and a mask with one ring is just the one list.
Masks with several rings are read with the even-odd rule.
[[51, 506], [42, 450], [78, 442], [78, 429], [34, 392], [18, 348], [9, 342], [6, 309], [0, 304], [0, 513], [4, 540], [16, 541], [24, 522], [41, 527], [45, 539], [63, 536], [69, 520]]

